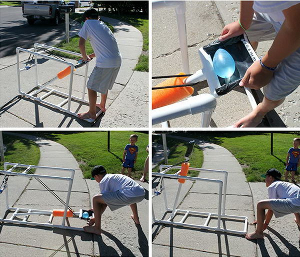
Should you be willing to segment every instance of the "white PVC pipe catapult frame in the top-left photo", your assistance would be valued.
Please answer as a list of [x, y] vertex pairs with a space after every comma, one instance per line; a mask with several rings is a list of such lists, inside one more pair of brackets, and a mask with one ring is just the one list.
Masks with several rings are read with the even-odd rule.
[[[30, 49], [23, 49], [23, 48], [17, 47], [16, 48], [16, 62], [17, 62], [16, 63], [16, 72], [17, 72], [17, 84], [18, 84], [18, 92], [19, 92], [19, 94], [22, 95], [22, 96], [26, 96], [26, 97], [28, 97], [28, 98], [36, 101], [36, 102], [40, 102], [40, 103], [48, 105], [48, 106], [50, 106], [50, 107], [52, 107], [54, 109], [58, 109], [58, 110], [60, 110], [62, 112], [66, 112], [66, 113], [68, 113], [70, 115], [78, 117], [77, 113], [70, 111], [71, 101], [75, 100], [75, 101], [77, 101], [79, 103], [89, 104], [89, 102], [84, 99], [85, 85], [86, 85], [86, 79], [87, 79], [88, 63], [85, 65], [84, 82], [83, 82], [83, 87], [82, 87], [82, 96], [81, 96], [81, 98], [79, 98], [79, 97], [76, 97], [76, 96], [72, 95], [74, 64], [70, 63], [70, 62], [66, 62], [66, 61], [60, 60], [60, 59], [56, 59], [56, 58], [53, 58], [53, 57], [50, 57], [50, 56], [46, 56], [46, 55], [42, 54], [42, 51], [41, 52], [33, 52], [32, 50], [34, 50], [36, 47], [43, 47], [43, 48], [46, 48], [48, 50], [56, 50], [56, 51], [59, 51], [59, 52], [63, 52], [63, 53], [67, 53], [67, 54], [71, 54], [71, 55], [75, 55], [75, 56], [81, 56], [80, 54], [75, 53], [75, 52], [71, 52], [71, 51], [68, 51], [68, 50], [59, 49], [59, 48], [56, 48], [56, 47], [50, 47], [50, 46], [39, 44], [39, 43], [34, 43], [34, 47], [30, 48]], [[27, 93], [25, 93], [25, 92], [23, 92], [21, 90], [20, 72], [23, 71], [24, 69], [20, 69], [20, 63], [19, 63], [19, 52], [20, 51], [32, 54], [34, 56], [34, 65], [32, 65], [32, 67], [33, 66], [35, 67], [35, 85], [36, 85], [36, 87], [38, 87], [38, 89], [35, 90], [34, 92], [30, 93], [30, 94], [27, 94]], [[63, 64], [66, 64], [66, 65], [68, 65], [68, 66], [71, 67], [68, 93], [64, 93], [64, 92], [61, 92], [61, 91], [58, 91], [58, 90], [55, 90], [55, 89], [47, 87], [48, 84], [50, 84], [51, 82], [53, 82], [56, 79], [58, 79], [57, 77], [54, 77], [50, 81], [46, 82], [44, 85], [38, 84], [37, 57], [46, 58], [48, 60], [52, 60], [52, 61], [55, 61], [55, 62], [58, 62], [58, 63], [63, 63]], [[42, 95], [41, 97], [34, 97], [34, 95], [37, 95], [39, 92], [41, 92], [43, 90], [47, 91], [47, 93], [45, 95]], [[57, 94], [57, 95], [59, 95], [61, 97], [66, 97], [66, 99], [63, 100], [59, 104], [53, 104], [53, 103], [50, 103], [48, 101], [43, 100], [44, 98], [46, 98], [47, 96], [49, 96], [52, 93], [55, 93], [55, 94]], [[63, 108], [62, 107], [65, 104], [67, 104], [67, 108]], [[100, 114], [100, 112], [97, 113], [97, 115], [99, 115], [99, 114]], [[86, 120], [86, 121], [93, 122], [92, 120]]]

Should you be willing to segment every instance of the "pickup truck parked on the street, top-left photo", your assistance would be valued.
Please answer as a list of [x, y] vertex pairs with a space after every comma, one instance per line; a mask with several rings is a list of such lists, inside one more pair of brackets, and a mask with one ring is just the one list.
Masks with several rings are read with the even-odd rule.
[[22, 5], [23, 17], [29, 25], [36, 20], [49, 20], [53, 25], [58, 25], [64, 15], [60, 14], [59, 6], [65, 6], [64, 1], [37, 1], [36, 4]]

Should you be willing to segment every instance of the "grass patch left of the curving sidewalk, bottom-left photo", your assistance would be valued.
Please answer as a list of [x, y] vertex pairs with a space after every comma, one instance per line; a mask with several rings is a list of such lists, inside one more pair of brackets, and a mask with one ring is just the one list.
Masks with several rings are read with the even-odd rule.
[[[6, 145], [4, 161], [32, 165], [38, 164], [40, 156], [39, 148], [33, 141], [3, 133], [3, 143]], [[0, 169], [3, 170], [3, 163], [0, 163]], [[16, 171], [21, 170], [23, 169]], [[30, 171], [34, 172], [34, 169]]]

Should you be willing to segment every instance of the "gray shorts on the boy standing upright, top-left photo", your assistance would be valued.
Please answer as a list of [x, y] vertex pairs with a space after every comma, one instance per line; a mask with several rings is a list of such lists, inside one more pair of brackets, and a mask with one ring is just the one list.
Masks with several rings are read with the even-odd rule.
[[87, 81], [87, 88], [106, 95], [116, 79], [120, 67], [99, 68], [94, 67]]

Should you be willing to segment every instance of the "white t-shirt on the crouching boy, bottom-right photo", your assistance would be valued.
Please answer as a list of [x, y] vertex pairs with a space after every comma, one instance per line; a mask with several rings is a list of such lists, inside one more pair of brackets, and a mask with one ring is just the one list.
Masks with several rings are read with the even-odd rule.
[[283, 181], [274, 181], [268, 188], [269, 199], [289, 199], [295, 205], [300, 206], [300, 187]]

